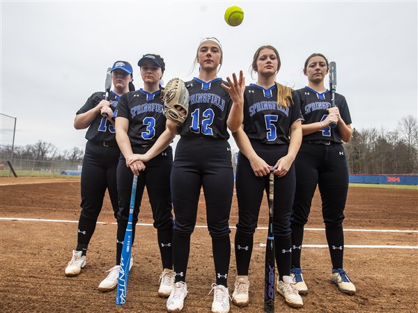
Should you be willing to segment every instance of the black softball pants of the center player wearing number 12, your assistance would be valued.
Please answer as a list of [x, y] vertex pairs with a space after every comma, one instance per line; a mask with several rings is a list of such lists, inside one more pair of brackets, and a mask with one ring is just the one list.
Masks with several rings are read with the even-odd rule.
[[212, 237], [217, 284], [226, 286], [231, 243], [229, 214], [233, 195], [231, 147], [226, 140], [180, 138], [171, 171], [171, 194], [176, 219], [173, 262], [176, 282], [185, 282], [190, 236], [196, 225], [201, 188], [206, 200], [206, 218]]

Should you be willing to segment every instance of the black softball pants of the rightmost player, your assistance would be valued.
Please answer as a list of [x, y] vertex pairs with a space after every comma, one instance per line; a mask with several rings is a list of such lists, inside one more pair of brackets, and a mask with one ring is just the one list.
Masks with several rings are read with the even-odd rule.
[[348, 164], [343, 145], [302, 143], [295, 160], [296, 193], [292, 215], [292, 265], [300, 268], [304, 225], [318, 185], [332, 268], [343, 268], [343, 220], [348, 193]]

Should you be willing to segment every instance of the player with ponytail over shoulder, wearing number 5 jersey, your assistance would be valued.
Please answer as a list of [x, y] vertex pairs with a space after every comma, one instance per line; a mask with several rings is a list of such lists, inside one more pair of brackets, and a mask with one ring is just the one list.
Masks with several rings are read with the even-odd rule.
[[[242, 98], [242, 86], [229, 82], [231, 98], [234, 104], [240, 104], [231, 111], [231, 116], [235, 118], [231, 130], [240, 148], [236, 173], [238, 224], [235, 234], [238, 276], [232, 301], [240, 307], [249, 303], [249, 263], [264, 191], [268, 195], [270, 168], [274, 168], [275, 175], [273, 232], [279, 271], [277, 291], [288, 305], [303, 306], [290, 275], [290, 219], [296, 187], [293, 161], [302, 141], [302, 114], [295, 92], [274, 81], [280, 65], [277, 49], [270, 45], [262, 46], [254, 54], [251, 65], [258, 74], [257, 83], [247, 86]], [[240, 81], [242, 83], [243, 79]]]

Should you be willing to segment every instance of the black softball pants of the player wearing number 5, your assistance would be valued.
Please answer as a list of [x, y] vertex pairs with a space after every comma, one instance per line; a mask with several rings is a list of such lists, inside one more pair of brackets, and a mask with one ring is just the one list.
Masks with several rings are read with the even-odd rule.
[[[265, 145], [251, 142], [258, 157], [270, 166], [288, 152], [288, 145]], [[273, 233], [277, 268], [280, 279], [291, 270], [291, 213], [295, 196], [295, 167], [284, 177], [274, 176]], [[238, 154], [236, 176], [238, 224], [235, 234], [235, 259], [238, 275], [248, 275], [263, 195], [269, 193], [269, 175], [257, 177], [248, 159]]]

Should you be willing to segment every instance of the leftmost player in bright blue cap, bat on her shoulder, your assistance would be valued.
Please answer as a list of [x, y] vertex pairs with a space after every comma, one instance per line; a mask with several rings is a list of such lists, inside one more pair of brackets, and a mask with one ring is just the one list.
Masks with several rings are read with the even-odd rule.
[[[109, 191], [114, 215], [118, 214], [118, 191], [116, 188], [116, 166], [121, 151], [116, 144], [115, 127], [111, 115], [121, 95], [127, 93], [132, 84], [132, 66], [125, 61], [116, 61], [111, 68], [114, 90], [109, 101], [104, 92], [93, 93], [82, 106], [74, 120], [75, 129], [86, 129], [86, 152], [82, 167], [82, 211], [77, 231], [77, 247], [65, 268], [65, 275], [76, 276], [86, 265], [86, 251], [95, 230], [104, 193]], [[104, 118], [101, 113], [106, 113]]]

